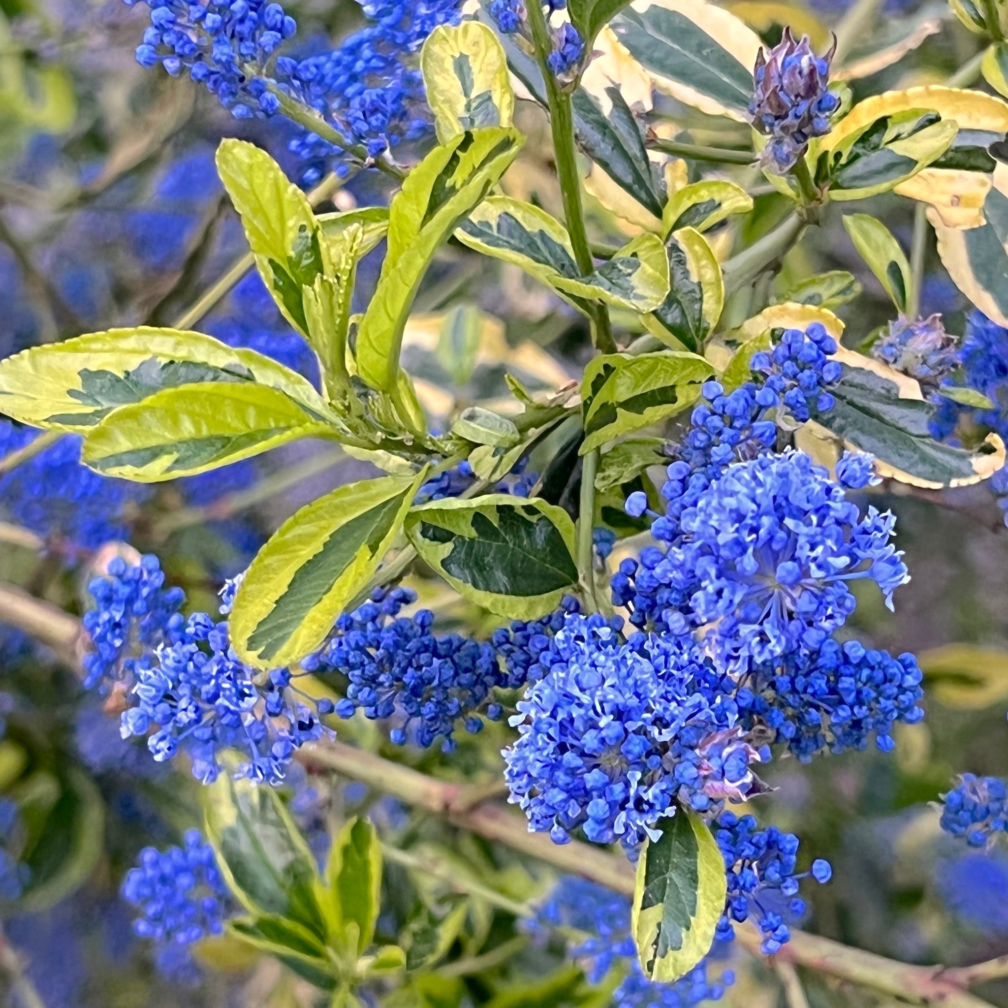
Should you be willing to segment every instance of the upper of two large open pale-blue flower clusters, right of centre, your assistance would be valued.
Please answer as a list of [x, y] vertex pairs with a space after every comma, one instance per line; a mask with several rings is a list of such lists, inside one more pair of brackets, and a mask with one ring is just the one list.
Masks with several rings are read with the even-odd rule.
[[[666, 498], [681, 496], [680, 464], [669, 467]], [[652, 526], [656, 537], [669, 534]], [[787, 451], [726, 469], [680, 514], [676, 541], [662, 553], [624, 560], [613, 580], [632, 621], [681, 632], [713, 625], [708, 642], [735, 671], [796, 647], [816, 648], [853, 612], [848, 582], [869, 578], [891, 607], [909, 580], [891, 543], [895, 519], [855, 504], [808, 456]], [[630, 578], [634, 578], [631, 589]]]

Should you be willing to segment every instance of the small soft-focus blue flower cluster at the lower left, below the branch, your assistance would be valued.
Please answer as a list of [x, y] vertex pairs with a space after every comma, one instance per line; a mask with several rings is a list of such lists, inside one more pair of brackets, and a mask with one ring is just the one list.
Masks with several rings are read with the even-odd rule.
[[[199, 830], [190, 830], [182, 847], [140, 852], [130, 869], [122, 895], [140, 911], [133, 929], [157, 942], [162, 953], [220, 934], [234, 910], [214, 851]], [[187, 959], [188, 957], [183, 957]]]

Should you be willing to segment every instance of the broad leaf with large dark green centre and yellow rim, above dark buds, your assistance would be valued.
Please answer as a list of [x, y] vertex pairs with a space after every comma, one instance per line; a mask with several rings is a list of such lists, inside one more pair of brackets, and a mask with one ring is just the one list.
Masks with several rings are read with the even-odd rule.
[[431, 501], [409, 512], [406, 534], [453, 588], [498, 616], [536, 619], [578, 581], [574, 523], [536, 498]]

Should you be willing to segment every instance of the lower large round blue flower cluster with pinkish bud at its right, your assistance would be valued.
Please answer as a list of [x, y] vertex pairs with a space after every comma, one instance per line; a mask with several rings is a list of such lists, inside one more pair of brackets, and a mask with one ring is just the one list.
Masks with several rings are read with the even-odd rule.
[[716, 810], [762, 786], [751, 765], [769, 751], [743, 737], [731, 680], [691, 638], [624, 643], [620, 622], [572, 615], [554, 636], [529, 640], [535, 674], [545, 674], [511, 718], [519, 738], [505, 750], [505, 778], [529, 828], [555, 843], [581, 829], [633, 849], [657, 836], [676, 800]]

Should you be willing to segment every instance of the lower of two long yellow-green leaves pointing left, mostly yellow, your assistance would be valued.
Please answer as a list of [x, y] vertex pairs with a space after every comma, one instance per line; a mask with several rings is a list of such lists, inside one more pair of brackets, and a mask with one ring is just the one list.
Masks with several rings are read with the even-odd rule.
[[157, 483], [331, 432], [277, 389], [205, 382], [109, 413], [85, 437], [81, 461], [106, 476]]

